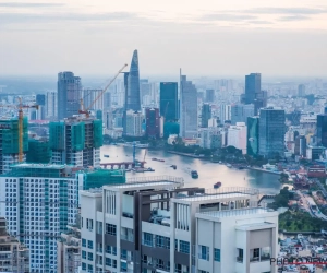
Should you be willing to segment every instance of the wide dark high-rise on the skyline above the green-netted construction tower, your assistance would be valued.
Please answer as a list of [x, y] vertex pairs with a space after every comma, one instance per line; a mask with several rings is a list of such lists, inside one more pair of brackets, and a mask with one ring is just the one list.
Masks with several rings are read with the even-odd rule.
[[58, 73], [58, 119], [77, 115], [82, 97], [82, 82], [73, 72]]

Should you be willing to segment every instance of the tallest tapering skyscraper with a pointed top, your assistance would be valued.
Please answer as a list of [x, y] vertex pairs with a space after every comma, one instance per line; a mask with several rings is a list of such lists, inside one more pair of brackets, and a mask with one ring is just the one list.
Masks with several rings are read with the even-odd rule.
[[141, 111], [138, 55], [134, 50], [130, 73], [126, 74], [125, 109]]

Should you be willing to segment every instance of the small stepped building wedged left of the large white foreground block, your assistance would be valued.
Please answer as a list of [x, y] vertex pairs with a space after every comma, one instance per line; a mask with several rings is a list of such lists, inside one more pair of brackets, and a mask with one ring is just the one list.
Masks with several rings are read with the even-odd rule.
[[57, 270], [61, 273], [76, 273], [81, 268], [81, 214], [75, 225], [68, 225], [57, 241]]

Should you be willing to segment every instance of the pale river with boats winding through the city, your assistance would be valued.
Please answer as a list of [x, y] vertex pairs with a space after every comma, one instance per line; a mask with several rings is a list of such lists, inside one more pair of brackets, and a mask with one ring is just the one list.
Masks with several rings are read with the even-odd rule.
[[[145, 156], [146, 152], [146, 156]], [[109, 155], [109, 158], [104, 157]], [[259, 189], [261, 193], [276, 194], [281, 189], [278, 181], [279, 176], [259, 170], [234, 169], [223, 164], [211, 163], [198, 158], [169, 154], [165, 151], [136, 149], [136, 159], [143, 161], [145, 156], [145, 167], [152, 167], [155, 171], [148, 173], [126, 173], [126, 177], [148, 177], [170, 175], [183, 177], [185, 187], [203, 187], [213, 189], [214, 183], [220, 181], [221, 187], [246, 187]], [[165, 159], [165, 162], [152, 161], [153, 157]], [[105, 145], [101, 147], [101, 163], [132, 162], [133, 147], [122, 145]], [[171, 168], [177, 165], [177, 169]], [[191, 170], [197, 170], [198, 178], [192, 179]]]

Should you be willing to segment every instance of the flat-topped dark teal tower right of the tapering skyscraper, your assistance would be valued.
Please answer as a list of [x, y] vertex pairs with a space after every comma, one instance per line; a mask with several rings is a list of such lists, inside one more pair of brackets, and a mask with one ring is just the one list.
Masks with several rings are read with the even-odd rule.
[[178, 120], [178, 83], [160, 83], [160, 116], [167, 121]]

